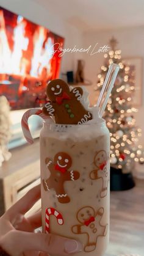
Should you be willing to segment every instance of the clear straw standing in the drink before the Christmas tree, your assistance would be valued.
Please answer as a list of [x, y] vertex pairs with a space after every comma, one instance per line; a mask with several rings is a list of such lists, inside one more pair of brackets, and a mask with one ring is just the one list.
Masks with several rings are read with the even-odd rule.
[[110, 93], [112, 92], [112, 88], [117, 78], [118, 71], [120, 67], [117, 64], [110, 64], [109, 70], [106, 75], [106, 79], [104, 80], [103, 88], [98, 98], [97, 106], [99, 108], [99, 117], [102, 117], [107, 105], [107, 101], [109, 100]]

